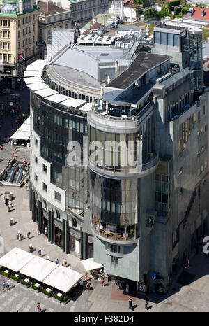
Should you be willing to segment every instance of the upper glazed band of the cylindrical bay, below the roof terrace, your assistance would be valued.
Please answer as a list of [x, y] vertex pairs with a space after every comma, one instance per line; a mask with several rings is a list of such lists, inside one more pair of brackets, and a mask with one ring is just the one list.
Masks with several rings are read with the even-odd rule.
[[[89, 160], [104, 169], [124, 171], [144, 164], [155, 150], [153, 115], [137, 132], [104, 132], [91, 125], [88, 128]], [[138, 146], [137, 146], [138, 143]]]

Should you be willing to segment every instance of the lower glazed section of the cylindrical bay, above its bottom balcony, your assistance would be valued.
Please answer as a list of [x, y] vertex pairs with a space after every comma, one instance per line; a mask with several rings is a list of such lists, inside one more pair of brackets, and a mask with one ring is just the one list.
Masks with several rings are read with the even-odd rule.
[[108, 236], [105, 230], [111, 232], [111, 239], [125, 240], [125, 233], [132, 233], [133, 238], [138, 236], [138, 188], [137, 178], [114, 180], [90, 170], [93, 229], [103, 236]]

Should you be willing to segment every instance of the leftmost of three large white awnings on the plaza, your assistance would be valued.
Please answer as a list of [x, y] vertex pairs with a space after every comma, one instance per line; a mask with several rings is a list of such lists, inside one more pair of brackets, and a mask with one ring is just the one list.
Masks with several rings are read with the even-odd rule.
[[0, 265], [17, 272], [34, 257], [31, 253], [15, 247], [0, 258]]

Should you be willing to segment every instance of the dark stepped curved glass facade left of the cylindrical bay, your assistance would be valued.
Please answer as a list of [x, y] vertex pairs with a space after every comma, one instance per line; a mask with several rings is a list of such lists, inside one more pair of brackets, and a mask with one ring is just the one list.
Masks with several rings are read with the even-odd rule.
[[[68, 143], [87, 134], [84, 113], [47, 104], [31, 93], [33, 129], [40, 136], [40, 156], [51, 162], [51, 183], [66, 191], [66, 206], [79, 214], [88, 206], [88, 166], [69, 166]], [[81, 157], [82, 158], [82, 157]]]

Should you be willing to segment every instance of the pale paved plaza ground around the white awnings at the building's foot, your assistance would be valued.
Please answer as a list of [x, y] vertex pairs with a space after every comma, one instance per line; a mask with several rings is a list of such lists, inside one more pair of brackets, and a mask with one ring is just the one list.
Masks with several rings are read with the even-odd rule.
[[[5, 191], [13, 191], [13, 211], [7, 211], [7, 206], [3, 203], [3, 194]], [[62, 264], [64, 258], [75, 271], [84, 274], [84, 268], [79, 259], [74, 255], [65, 255], [61, 248], [47, 241], [43, 234], [37, 235], [36, 222], [31, 220], [29, 211], [29, 192], [26, 187], [0, 187], [0, 234], [3, 237], [4, 253], [14, 247], [28, 250], [29, 244], [33, 245], [33, 255], [38, 255], [38, 248], [42, 249], [42, 257], [49, 255], [50, 260], [59, 258]], [[10, 218], [13, 218], [15, 225], [10, 226]], [[17, 231], [20, 230], [24, 239], [17, 240]], [[27, 232], [30, 230], [31, 239], [27, 239]], [[0, 256], [4, 254], [2, 252]], [[193, 255], [190, 260], [191, 267], [184, 271], [181, 269], [171, 285], [167, 296], [149, 295], [148, 312], [169, 312], [169, 311], [209, 311], [209, 259], [200, 250], [198, 255]], [[182, 274], [183, 273], [183, 274]], [[5, 278], [0, 276], [2, 285]], [[187, 284], [189, 280], [192, 283]], [[31, 292], [31, 289], [22, 288], [18, 283], [11, 280], [10, 290], [3, 292], [0, 287], [0, 312], [1, 311], [36, 311], [36, 304], [40, 302], [43, 311], [46, 312], [130, 312], [128, 309], [128, 299], [130, 295], [125, 295], [123, 290], [117, 290], [114, 281], [106, 282], [102, 287], [99, 281], [90, 281], [93, 290], [83, 290], [82, 294], [75, 300], [70, 300], [68, 304], [56, 303], [52, 298], [46, 298], [41, 293]], [[185, 285], [187, 284], [187, 285]], [[133, 297], [134, 311], [145, 311], [144, 297]]]

